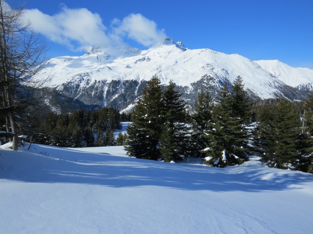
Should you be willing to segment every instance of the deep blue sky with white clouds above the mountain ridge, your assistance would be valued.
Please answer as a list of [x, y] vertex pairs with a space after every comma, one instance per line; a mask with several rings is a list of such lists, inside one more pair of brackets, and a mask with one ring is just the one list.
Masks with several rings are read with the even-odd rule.
[[80, 56], [88, 46], [146, 49], [167, 36], [189, 49], [313, 69], [311, 0], [28, 0], [25, 8], [50, 57]]

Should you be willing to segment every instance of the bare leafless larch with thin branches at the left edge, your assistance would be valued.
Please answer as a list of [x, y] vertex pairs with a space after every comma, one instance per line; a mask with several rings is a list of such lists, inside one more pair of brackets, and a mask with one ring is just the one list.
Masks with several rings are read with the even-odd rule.
[[35, 76], [46, 61], [44, 41], [23, 14], [23, 7], [11, 8], [0, 0], [0, 110], [5, 114], [13, 150], [18, 150], [18, 127], [27, 109], [38, 104], [31, 99], [29, 88], [43, 85], [44, 80]]

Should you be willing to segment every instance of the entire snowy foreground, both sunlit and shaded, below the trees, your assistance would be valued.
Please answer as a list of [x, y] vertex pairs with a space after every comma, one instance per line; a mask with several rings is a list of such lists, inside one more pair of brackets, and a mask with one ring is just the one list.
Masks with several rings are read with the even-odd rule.
[[312, 174], [27, 147], [0, 149], [0, 233], [313, 233]]

